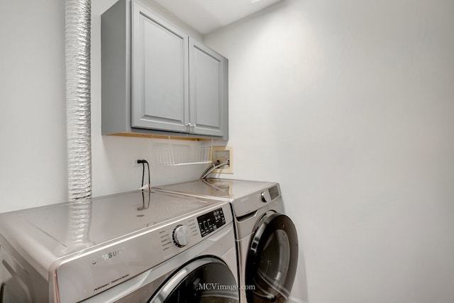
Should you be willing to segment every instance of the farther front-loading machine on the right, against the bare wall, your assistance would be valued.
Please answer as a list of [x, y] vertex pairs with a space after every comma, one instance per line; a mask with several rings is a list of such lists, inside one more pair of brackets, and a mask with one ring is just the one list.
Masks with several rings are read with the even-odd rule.
[[155, 190], [229, 202], [238, 250], [240, 302], [286, 302], [296, 275], [298, 237], [275, 182], [201, 179]]

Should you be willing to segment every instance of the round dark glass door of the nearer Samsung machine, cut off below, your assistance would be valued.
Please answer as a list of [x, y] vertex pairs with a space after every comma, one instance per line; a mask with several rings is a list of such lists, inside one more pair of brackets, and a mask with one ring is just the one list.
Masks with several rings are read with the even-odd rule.
[[225, 263], [206, 257], [178, 270], [148, 302], [238, 303], [238, 285]]

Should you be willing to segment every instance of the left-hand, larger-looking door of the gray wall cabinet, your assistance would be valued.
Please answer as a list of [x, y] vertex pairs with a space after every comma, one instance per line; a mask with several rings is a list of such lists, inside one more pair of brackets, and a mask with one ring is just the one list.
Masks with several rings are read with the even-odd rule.
[[131, 126], [187, 132], [188, 36], [133, 1]]

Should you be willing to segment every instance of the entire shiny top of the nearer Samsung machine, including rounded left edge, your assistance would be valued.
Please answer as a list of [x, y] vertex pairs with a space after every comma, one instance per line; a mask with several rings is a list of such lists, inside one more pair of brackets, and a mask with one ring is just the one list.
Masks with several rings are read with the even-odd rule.
[[98, 250], [219, 203], [162, 192], [127, 192], [0, 214], [0, 235], [45, 272], [59, 258]]

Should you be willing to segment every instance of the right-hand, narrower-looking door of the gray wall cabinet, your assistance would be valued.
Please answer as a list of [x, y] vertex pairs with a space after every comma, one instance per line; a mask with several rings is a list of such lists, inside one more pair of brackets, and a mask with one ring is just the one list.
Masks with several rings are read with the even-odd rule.
[[228, 61], [192, 38], [189, 38], [189, 87], [191, 132], [226, 136]]

